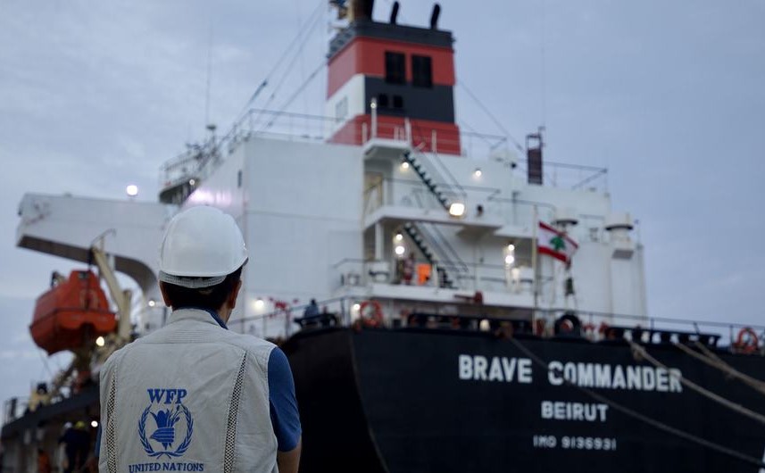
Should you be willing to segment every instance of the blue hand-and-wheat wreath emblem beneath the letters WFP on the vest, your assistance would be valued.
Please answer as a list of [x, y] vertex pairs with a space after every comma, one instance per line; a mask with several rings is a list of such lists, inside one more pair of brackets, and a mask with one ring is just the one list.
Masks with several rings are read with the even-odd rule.
[[[151, 409], [152, 406], [150, 404], [138, 421], [138, 437], [146, 453], [150, 457], [156, 458], [162, 458], [162, 455], [167, 455], [168, 458], [183, 455], [187, 451], [188, 445], [191, 444], [191, 435], [194, 432], [194, 420], [191, 418], [191, 412], [188, 411], [185, 405], [180, 403], [176, 404], [174, 410], [165, 409], [152, 412]], [[149, 414], [154, 417], [156, 430], [154, 430], [151, 436], [146, 438], [146, 420]], [[176, 425], [180, 419], [186, 421], [186, 436], [184, 436], [178, 447], [173, 449], [173, 444], [176, 443]], [[155, 451], [149, 439], [161, 444], [164, 450]]]

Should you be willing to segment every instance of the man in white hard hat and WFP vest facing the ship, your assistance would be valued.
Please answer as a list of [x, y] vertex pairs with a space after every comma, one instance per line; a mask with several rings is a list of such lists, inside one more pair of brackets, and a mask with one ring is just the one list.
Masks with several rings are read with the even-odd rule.
[[104, 363], [100, 471], [297, 472], [287, 357], [226, 327], [246, 261], [229, 215], [193, 207], [170, 220], [159, 279], [172, 313]]

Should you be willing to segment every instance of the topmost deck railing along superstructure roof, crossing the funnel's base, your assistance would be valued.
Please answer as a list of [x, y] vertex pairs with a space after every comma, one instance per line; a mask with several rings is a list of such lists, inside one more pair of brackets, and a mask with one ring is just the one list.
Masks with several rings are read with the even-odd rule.
[[[358, 126], [347, 126], [349, 124]], [[221, 160], [233, 153], [237, 145], [250, 137], [333, 141], [356, 145], [363, 145], [373, 137], [386, 137], [407, 143], [412, 149], [423, 153], [459, 154], [478, 163], [494, 160], [524, 173], [527, 166], [526, 160], [519, 158], [524, 150], [518, 145], [511, 145], [508, 137], [501, 135], [461, 130], [459, 139], [454, 139], [453, 129], [412, 129], [405, 124], [373, 124], [370, 117], [347, 120], [326, 115], [252, 108], [244, 112], [225, 135], [218, 137], [212, 131], [212, 135], [202, 144], [188, 145], [186, 152], [165, 162], [160, 169], [160, 188], [164, 190], [176, 187], [189, 179], [204, 180]], [[545, 162], [544, 173], [545, 185], [548, 186], [607, 190], [607, 170], [603, 168]]]

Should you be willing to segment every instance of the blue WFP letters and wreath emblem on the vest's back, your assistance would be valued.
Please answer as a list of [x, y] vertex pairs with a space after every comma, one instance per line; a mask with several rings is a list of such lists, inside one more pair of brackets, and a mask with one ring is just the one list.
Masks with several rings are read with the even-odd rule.
[[[194, 419], [183, 405], [186, 389], [147, 389], [149, 405], [138, 420], [138, 438], [152, 458], [180, 457], [191, 444]], [[151, 418], [149, 417], [151, 415]], [[146, 430], [150, 434], [146, 436]], [[182, 439], [182, 440], [181, 440]]]

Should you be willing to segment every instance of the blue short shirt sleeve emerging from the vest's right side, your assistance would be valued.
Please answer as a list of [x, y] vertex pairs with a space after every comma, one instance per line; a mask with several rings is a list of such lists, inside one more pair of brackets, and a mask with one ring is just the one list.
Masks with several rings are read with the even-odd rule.
[[270, 417], [279, 452], [289, 452], [300, 440], [300, 415], [295, 400], [295, 381], [287, 355], [279, 347], [269, 357]]

